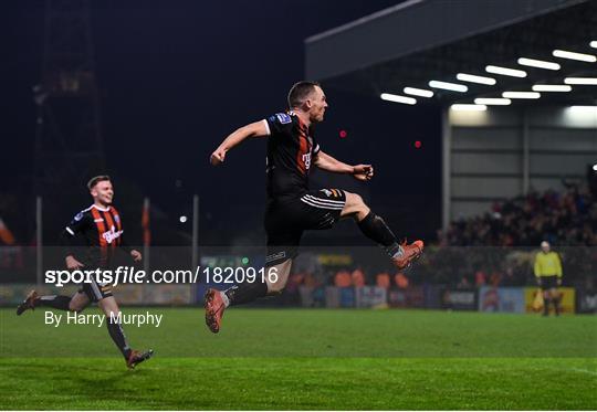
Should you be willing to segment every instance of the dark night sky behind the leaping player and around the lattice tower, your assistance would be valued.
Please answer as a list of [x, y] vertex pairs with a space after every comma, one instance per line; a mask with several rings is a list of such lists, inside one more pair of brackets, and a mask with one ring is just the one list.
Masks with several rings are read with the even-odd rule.
[[[224, 233], [219, 242], [230, 242], [233, 229], [251, 230], [254, 222], [262, 231], [265, 141], [234, 149], [223, 168], [210, 167], [209, 155], [237, 127], [286, 108], [287, 89], [303, 78], [305, 38], [395, 3], [93, 2], [106, 172], [115, 178], [116, 202], [126, 201], [124, 209], [140, 211], [139, 197], [149, 196], [161, 211], [158, 214], [176, 225], [198, 193], [202, 231]], [[41, 74], [44, 2], [11, 4], [3, 4], [11, 17], [11, 35], [1, 40], [9, 56], [2, 68], [9, 82], [0, 215], [21, 228], [15, 231], [27, 243], [31, 224], [17, 221], [23, 215], [11, 214], [7, 203], [14, 201], [7, 199], [15, 198], [18, 184], [31, 182], [35, 134], [31, 87]], [[326, 120], [316, 130], [323, 150], [346, 162], [371, 162], [376, 178], [364, 184], [317, 172], [315, 186], [357, 191], [375, 210], [389, 211], [394, 226], [431, 235], [440, 225], [439, 110], [346, 94], [325, 88], [325, 82], [323, 86], [329, 102]], [[342, 129], [348, 133], [344, 139], [338, 136]], [[419, 150], [416, 140], [422, 141]], [[73, 193], [65, 215], [85, 207], [80, 201], [84, 181], [81, 188], [61, 191]], [[19, 196], [15, 201], [31, 199]], [[30, 211], [29, 205], [19, 208]]]

